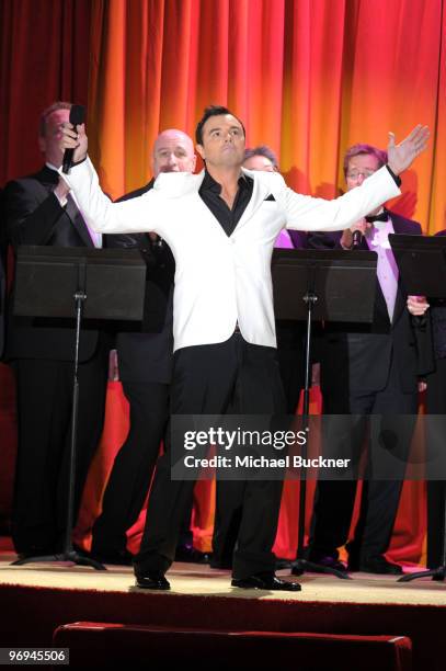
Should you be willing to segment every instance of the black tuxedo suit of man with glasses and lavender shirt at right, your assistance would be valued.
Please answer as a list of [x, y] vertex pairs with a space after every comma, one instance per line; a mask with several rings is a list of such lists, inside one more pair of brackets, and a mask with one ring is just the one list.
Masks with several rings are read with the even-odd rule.
[[[415, 221], [389, 213], [396, 234], [420, 235]], [[310, 236], [315, 248], [340, 247], [341, 234]], [[368, 250], [366, 241], [362, 248]], [[415, 414], [418, 409], [419, 348], [426, 334], [422, 323], [415, 332], [405, 307], [407, 294], [398, 284], [393, 318], [390, 323], [386, 302], [377, 278], [371, 325], [328, 325], [321, 356], [321, 390], [324, 414]], [[413, 425], [392, 418], [399, 436], [399, 481], [369, 480], [364, 484], [359, 522], [351, 545], [351, 561], [364, 561], [388, 549], [401, 492], [407, 453]], [[338, 422], [338, 423], [336, 423]], [[356, 420], [355, 420], [356, 422]], [[352, 436], [364, 435], [363, 420], [357, 419]], [[342, 420], [333, 420], [330, 447], [342, 454], [345, 435]], [[336, 429], [338, 428], [338, 429]], [[339, 430], [339, 431], [338, 431]], [[356, 435], [356, 439], [353, 439]], [[339, 441], [339, 442], [338, 442]], [[347, 541], [355, 481], [319, 481], [312, 520], [310, 557], [338, 556], [336, 548]]]

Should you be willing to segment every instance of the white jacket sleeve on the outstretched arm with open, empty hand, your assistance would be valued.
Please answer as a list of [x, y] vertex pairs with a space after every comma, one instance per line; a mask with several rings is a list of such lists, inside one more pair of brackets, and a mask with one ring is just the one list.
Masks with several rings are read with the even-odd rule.
[[[277, 181], [276, 186], [279, 184]], [[285, 182], [283, 186], [273, 191], [273, 195], [284, 212], [286, 227], [300, 230], [332, 231], [350, 228], [369, 212], [401, 193], [386, 167], [377, 170], [361, 186], [333, 201], [298, 194], [285, 186]]]

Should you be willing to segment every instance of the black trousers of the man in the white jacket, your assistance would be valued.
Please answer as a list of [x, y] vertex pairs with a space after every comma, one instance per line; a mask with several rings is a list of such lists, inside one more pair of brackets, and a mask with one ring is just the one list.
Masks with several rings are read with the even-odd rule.
[[[174, 355], [172, 414], [284, 413], [285, 398], [272, 348], [247, 343], [235, 333], [224, 343], [179, 350]], [[281, 481], [247, 481], [233, 558], [233, 576], [274, 570]], [[165, 571], [174, 558], [184, 507], [194, 481], [172, 480], [170, 455], [161, 456], [149, 499], [136, 566]]]

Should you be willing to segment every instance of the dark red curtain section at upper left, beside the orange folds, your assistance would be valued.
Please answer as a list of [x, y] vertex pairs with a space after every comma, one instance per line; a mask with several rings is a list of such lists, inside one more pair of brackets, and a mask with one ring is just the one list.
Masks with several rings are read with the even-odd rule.
[[0, 185], [42, 164], [39, 113], [55, 100], [87, 104], [89, 0], [0, 3]]

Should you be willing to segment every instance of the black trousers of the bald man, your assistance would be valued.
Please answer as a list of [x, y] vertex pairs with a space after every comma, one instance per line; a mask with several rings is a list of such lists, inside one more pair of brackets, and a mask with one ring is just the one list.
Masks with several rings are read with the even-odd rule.
[[126, 531], [138, 519], [169, 421], [170, 385], [123, 380], [129, 402], [129, 431], [105, 488], [102, 512], [93, 525], [93, 554], [126, 548]]

